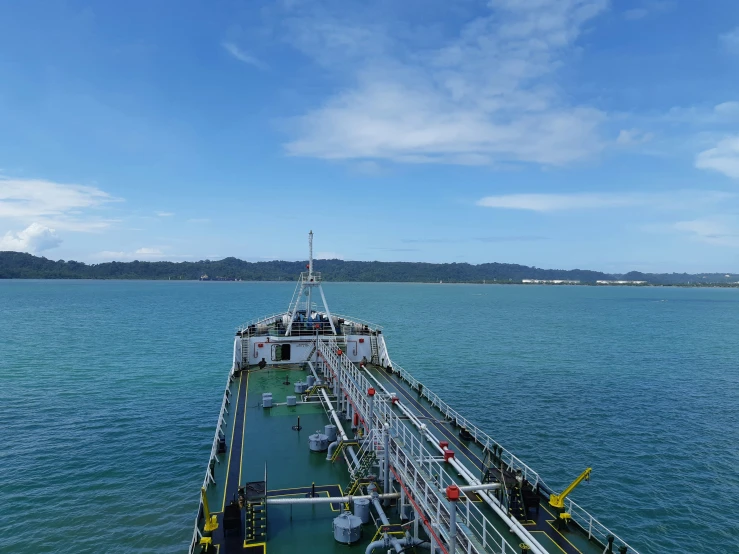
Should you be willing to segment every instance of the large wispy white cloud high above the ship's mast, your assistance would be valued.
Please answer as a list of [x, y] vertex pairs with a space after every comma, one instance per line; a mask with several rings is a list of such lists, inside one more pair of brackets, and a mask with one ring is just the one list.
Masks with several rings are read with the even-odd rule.
[[606, 4], [495, 0], [488, 14], [432, 49], [400, 43], [380, 25], [298, 17], [295, 44], [351, 84], [292, 122], [286, 150], [462, 165], [588, 157], [602, 148], [597, 128], [605, 115], [568, 105], [554, 71]]

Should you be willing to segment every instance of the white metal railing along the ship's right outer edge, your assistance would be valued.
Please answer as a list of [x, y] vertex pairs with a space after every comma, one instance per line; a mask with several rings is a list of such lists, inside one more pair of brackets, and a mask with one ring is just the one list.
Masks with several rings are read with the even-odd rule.
[[[408, 370], [404, 369], [398, 364], [392, 363], [391, 365], [393, 371], [397, 372], [398, 375], [412, 388], [418, 390], [419, 385], [421, 385], [421, 382], [418, 379], [413, 377], [413, 375], [411, 375]], [[457, 425], [461, 427], [465, 427], [474, 437], [475, 441], [483, 448], [492, 449], [493, 446], [497, 446], [497, 448], [501, 452], [501, 459], [508, 466], [508, 468], [513, 471], [520, 471], [524, 479], [531, 483], [532, 486], [535, 487], [536, 485], [539, 485], [539, 488], [548, 494], [552, 494], [554, 492], [554, 490], [544, 482], [544, 480], [536, 471], [531, 469], [512, 452], [503, 448], [503, 446], [501, 446], [498, 441], [491, 438], [469, 419], [467, 419], [457, 410], [449, 406], [441, 399], [441, 397], [439, 397], [438, 394], [428, 389], [425, 385], [421, 387], [421, 396], [426, 398], [426, 400], [428, 400], [432, 406], [436, 407], [437, 410], [444, 414], [447, 419], [454, 421]], [[572, 520], [588, 534], [589, 539], [594, 538], [599, 543], [605, 546], [606, 544], [608, 544], [608, 536], [613, 536], [614, 547], [625, 546], [628, 548], [628, 552], [632, 554], [639, 554], [633, 547], [629, 546], [626, 541], [624, 541], [621, 537], [608, 529], [600, 521], [595, 519], [595, 517], [593, 517], [587, 510], [576, 504], [572, 499], [565, 499], [565, 509], [569, 514], [571, 514]]]

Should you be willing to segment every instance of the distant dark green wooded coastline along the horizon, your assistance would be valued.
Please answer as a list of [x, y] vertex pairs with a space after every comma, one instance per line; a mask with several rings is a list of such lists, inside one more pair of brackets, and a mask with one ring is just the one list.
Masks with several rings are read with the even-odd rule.
[[[0, 252], [0, 279], [94, 279], [162, 281], [294, 282], [305, 263], [246, 262], [237, 258], [197, 262], [83, 262], [49, 260], [21, 252]], [[521, 284], [531, 286], [739, 287], [736, 273], [608, 274], [586, 269], [542, 269], [519, 264], [357, 262], [316, 260], [326, 281], [437, 284]]]

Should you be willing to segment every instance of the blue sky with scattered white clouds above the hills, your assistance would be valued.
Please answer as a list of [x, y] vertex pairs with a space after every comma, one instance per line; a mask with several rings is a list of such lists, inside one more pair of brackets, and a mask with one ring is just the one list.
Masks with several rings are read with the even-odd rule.
[[0, 250], [739, 272], [735, 0], [0, 2]]

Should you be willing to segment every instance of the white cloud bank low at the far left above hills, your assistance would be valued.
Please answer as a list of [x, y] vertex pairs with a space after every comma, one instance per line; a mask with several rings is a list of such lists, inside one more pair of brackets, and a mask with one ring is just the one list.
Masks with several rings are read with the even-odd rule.
[[0, 218], [28, 224], [69, 231], [99, 230], [112, 221], [94, 210], [119, 200], [97, 187], [0, 176]]

